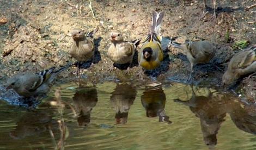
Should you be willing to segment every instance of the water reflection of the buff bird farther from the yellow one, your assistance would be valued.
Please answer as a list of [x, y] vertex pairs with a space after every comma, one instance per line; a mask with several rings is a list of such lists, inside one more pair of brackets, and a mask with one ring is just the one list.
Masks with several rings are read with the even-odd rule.
[[95, 87], [77, 89], [73, 97], [75, 111], [78, 115], [79, 126], [87, 126], [90, 123], [90, 112], [97, 103], [97, 90]]

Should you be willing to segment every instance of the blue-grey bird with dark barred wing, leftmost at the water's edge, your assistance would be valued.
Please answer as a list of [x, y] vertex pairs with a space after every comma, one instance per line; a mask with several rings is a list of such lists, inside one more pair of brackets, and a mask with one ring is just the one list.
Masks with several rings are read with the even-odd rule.
[[26, 72], [17, 74], [7, 80], [6, 89], [13, 89], [20, 96], [25, 98], [44, 96], [50, 91], [53, 79], [62, 71], [71, 67], [71, 64], [56, 70], [56, 67], [51, 67], [39, 73]]

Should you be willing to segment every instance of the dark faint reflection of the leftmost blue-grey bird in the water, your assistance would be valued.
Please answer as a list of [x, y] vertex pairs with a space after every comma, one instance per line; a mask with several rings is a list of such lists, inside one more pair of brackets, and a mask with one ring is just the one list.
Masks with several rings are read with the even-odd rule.
[[13, 139], [24, 139], [26, 136], [48, 133], [50, 128], [58, 127], [57, 121], [53, 120], [48, 112], [42, 110], [27, 112], [16, 124], [15, 130], [9, 134]]

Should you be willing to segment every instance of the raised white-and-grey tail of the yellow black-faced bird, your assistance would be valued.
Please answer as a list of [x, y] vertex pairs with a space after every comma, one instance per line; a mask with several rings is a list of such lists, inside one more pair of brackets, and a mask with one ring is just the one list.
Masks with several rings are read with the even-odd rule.
[[160, 35], [160, 27], [161, 27], [161, 22], [163, 20], [163, 16], [164, 16], [164, 11], [162, 12], [153, 11], [152, 24], [150, 27], [151, 36], [153, 36], [153, 33]]

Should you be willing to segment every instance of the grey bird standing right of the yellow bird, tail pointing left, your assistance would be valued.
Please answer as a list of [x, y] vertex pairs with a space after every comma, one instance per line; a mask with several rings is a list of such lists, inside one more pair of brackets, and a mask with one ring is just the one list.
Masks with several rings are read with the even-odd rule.
[[170, 41], [170, 45], [180, 49], [180, 53], [187, 56], [188, 61], [190, 61], [190, 76], [188, 80], [192, 78], [193, 66], [196, 64], [203, 64], [209, 62], [214, 58], [216, 53], [216, 48], [208, 41], [187, 41], [186, 43], [177, 43]]

